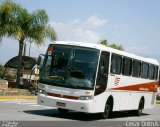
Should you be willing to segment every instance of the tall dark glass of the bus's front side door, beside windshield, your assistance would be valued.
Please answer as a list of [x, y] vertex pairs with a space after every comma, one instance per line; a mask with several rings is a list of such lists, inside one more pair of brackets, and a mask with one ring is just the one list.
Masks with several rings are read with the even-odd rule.
[[95, 95], [99, 95], [106, 90], [108, 81], [108, 68], [109, 68], [110, 54], [108, 52], [102, 52], [98, 67], [98, 75], [96, 81]]

